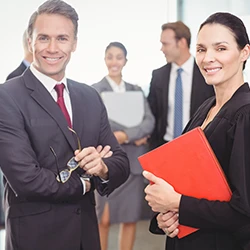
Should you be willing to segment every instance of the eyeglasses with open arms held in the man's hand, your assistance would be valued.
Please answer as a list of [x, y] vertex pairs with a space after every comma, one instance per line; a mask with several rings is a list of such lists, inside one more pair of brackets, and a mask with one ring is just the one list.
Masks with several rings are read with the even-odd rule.
[[[77, 144], [78, 144], [78, 150], [81, 151], [82, 150], [82, 147], [81, 147], [81, 143], [80, 143], [80, 140], [79, 140], [79, 137], [77, 135], [77, 133], [75, 132], [75, 130], [73, 130], [72, 128], [68, 127], [68, 129], [74, 133], [76, 135], [76, 138], [77, 138]], [[55, 156], [56, 158], [56, 167], [57, 167], [57, 172], [58, 172], [58, 175], [56, 176], [56, 180], [58, 182], [61, 182], [61, 183], [65, 183], [66, 181], [69, 180], [70, 176], [71, 176], [71, 173], [76, 170], [80, 163], [77, 162], [75, 160], [75, 157], [73, 156], [67, 163], [67, 168], [60, 171], [59, 172], [59, 167], [58, 167], [58, 160], [57, 160], [57, 156], [56, 156], [56, 153], [54, 151], [54, 149], [52, 147], [50, 147], [50, 150], [51, 152], [53, 153], [53, 155]]]

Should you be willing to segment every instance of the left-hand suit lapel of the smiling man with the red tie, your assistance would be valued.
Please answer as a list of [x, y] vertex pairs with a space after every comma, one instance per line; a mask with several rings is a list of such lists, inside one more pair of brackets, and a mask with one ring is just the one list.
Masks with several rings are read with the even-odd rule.
[[68, 130], [67, 121], [61, 112], [60, 108], [43, 86], [43, 84], [27, 69], [24, 73], [25, 85], [30, 89], [30, 96], [41, 106], [55, 122], [58, 124], [68, 143], [73, 150], [76, 149], [76, 143], [72, 136], [72, 132]]

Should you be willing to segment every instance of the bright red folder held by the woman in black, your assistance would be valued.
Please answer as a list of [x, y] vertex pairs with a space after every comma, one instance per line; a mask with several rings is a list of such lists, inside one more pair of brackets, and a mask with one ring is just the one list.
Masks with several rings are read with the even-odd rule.
[[[219, 201], [229, 201], [232, 196], [224, 172], [200, 127], [138, 160], [144, 170], [164, 179], [180, 194]], [[180, 225], [178, 238], [197, 230]]]

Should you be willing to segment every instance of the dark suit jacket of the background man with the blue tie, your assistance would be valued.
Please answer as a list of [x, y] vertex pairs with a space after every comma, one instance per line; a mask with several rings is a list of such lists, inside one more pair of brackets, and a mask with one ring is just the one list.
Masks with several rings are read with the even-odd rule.
[[[152, 74], [148, 101], [155, 116], [155, 129], [149, 140], [151, 148], [158, 147], [165, 142], [163, 136], [166, 133], [167, 127], [170, 71], [171, 63], [168, 63], [154, 70]], [[213, 87], [206, 84], [198, 66], [194, 63], [190, 117], [195, 113], [198, 107], [212, 95], [214, 95]]]

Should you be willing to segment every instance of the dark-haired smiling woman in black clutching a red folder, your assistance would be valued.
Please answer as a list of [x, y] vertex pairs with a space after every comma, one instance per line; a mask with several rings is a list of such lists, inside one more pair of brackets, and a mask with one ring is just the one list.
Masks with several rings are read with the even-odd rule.
[[[232, 14], [215, 13], [200, 26], [196, 62], [215, 97], [201, 105], [184, 133], [197, 126], [204, 130], [232, 198], [221, 202], [182, 195], [144, 172], [155, 183], [146, 188], [146, 200], [159, 212], [150, 230], [168, 236], [167, 250], [250, 249], [250, 89], [243, 77], [249, 44], [243, 22]], [[179, 239], [179, 224], [200, 230]]]

